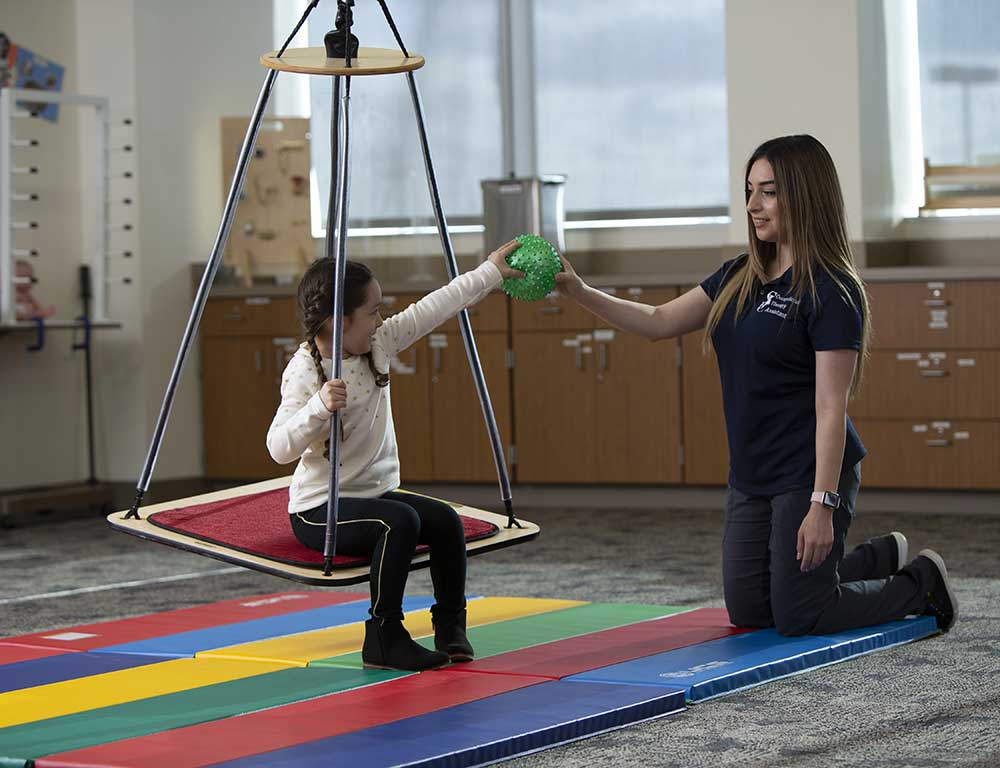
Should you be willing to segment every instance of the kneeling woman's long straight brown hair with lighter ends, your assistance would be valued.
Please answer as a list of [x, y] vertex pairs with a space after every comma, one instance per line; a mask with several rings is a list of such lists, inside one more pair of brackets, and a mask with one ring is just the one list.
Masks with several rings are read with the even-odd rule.
[[[792, 252], [792, 290], [801, 299], [808, 289], [816, 302], [816, 277], [822, 270], [836, 283], [846, 300], [862, 316], [861, 349], [854, 369], [850, 395], [861, 386], [864, 365], [869, 357], [871, 313], [865, 294], [864, 281], [854, 266], [851, 244], [847, 238], [844, 217], [844, 197], [833, 158], [812, 136], [780, 136], [765, 141], [747, 160], [744, 181], [749, 184], [750, 169], [764, 158], [774, 170], [779, 240]], [[746, 192], [747, 202], [750, 192]], [[718, 327], [734, 297], [738, 322], [751, 297], [767, 282], [767, 266], [778, 257], [779, 243], [757, 237], [750, 213], [747, 212], [750, 250], [747, 259], [736, 268], [733, 277], [723, 286], [705, 323], [704, 346], [708, 349], [713, 331]], [[853, 290], [852, 290], [853, 289]], [[860, 306], [857, 306], [857, 301]]]

